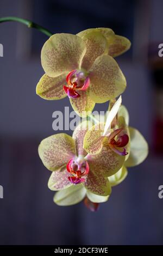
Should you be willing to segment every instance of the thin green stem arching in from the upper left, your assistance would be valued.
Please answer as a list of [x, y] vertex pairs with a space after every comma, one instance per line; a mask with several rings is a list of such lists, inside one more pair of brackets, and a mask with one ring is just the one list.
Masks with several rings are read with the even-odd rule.
[[43, 33], [47, 36], [53, 35], [53, 33], [49, 32], [46, 28], [43, 28], [43, 27], [37, 25], [33, 21], [24, 20], [24, 19], [21, 19], [21, 18], [18, 18], [18, 17], [12, 17], [12, 16], [0, 18], [0, 23], [1, 22], [7, 22], [7, 21], [17, 21], [17, 22], [23, 23], [28, 28], [36, 28], [38, 31], [40, 31], [41, 33]]

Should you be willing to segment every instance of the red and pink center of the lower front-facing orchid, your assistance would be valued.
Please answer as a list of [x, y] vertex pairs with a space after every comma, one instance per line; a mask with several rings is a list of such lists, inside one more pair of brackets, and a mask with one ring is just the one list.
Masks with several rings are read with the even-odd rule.
[[78, 161], [75, 159], [70, 159], [67, 163], [67, 171], [72, 174], [68, 177], [73, 184], [79, 184], [85, 181], [84, 176], [89, 173], [89, 164], [83, 159], [83, 161]]

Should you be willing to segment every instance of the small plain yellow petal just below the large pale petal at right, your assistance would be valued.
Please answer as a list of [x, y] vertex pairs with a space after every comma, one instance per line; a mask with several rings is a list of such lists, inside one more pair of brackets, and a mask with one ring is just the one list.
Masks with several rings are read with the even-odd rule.
[[127, 168], [125, 166], [122, 166], [120, 170], [118, 170], [117, 173], [110, 176], [108, 179], [110, 181], [111, 186], [116, 186], [120, 184], [124, 179], [126, 179], [128, 174]]

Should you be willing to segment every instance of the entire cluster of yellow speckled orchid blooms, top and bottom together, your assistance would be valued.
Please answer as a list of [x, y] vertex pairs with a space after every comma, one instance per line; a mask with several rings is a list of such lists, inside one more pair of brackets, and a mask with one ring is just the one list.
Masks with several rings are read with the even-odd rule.
[[[43, 139], [39, 156], [52, 171], [48, 187], [58, 205], [84, 200], [92, 211], [109, 199], [112, 186], [127, 176], [127, 167], [141, 163], [148, 154], [143, 136], [128, 126], [129, 115], [121, 105], [126, 78], [114, 57], [127, 51], [130, 41], [109, 28], [54, 34], [43, 45], [45, 70], [36, 87], [43, 99], [68, 96], [80, 117], [72, 137], [58, 133]], [[91, 122], [95, 103], [110, 101], [105, 121]], [[83, 114], [84, 113], [84, 114]]]

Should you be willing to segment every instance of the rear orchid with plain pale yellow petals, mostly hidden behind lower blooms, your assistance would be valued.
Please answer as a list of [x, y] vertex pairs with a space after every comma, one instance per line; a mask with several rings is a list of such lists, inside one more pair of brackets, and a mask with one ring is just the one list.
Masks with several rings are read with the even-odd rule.
[[[120, 106], [117, 113], [117, 118], [125, 120], [126, 125], [129, 125], [129, 114], [123, 105]], [[129, 130], [129, 154], [126, 156], [123, 166], [115, 174], [108, 177], [111, 187], [119, 185], [128, 175], [128, 167], [134, 167], [143, 162], [148, 155], [148, 144], [139, 131], [132, 127]], [[109, 160], [109, 159], [108, 159]], [[111, 160], [110, 160], [111, 161]], [[113, 188], [112, 188], [113, 190]], [[97, 211], [99, 203], [106, 202], [110, 196], [97, 196], [82, 187], [82, 184], [71, 186], [62, 191], [58, 191], [54, 196], [54, 202], [61, 206], [73, 205], [84, 201], [84, 204], [91, 211]]]

